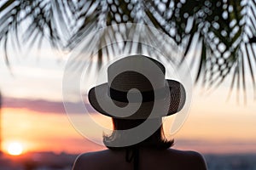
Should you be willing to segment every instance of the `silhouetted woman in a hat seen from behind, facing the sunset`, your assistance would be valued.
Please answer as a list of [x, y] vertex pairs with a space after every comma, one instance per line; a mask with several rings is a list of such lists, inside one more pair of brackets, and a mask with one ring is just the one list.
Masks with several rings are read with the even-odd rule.
[[166, 80], [165, 73], [159, 61], [143, 55], [108, 67], [108, 82], [88, 95], [96, 111], [112, 117], [114, 131], [103, 136], [108, 150], [81, 154], [73, 170], [207, 169], [201, 154], [174, 150], [164, 136], [162, 117], [180, 111], [186, 99], [183, 85]]

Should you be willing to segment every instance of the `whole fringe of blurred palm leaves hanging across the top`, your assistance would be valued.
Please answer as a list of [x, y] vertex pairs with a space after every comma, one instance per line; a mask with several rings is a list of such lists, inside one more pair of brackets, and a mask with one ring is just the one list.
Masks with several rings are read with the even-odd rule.
[[[201, 52], [199, 60], [191, 59], [191, 65], [199, 62], [195, 82], [201, 80], [207, 88], [216, 88], [230, 75], [230, 91], [234, 87], [246, 91], [248, 83], [255, 88], [255, 9], [255, 0], [5, 0], [0, 3], [0, 41], [7, 48], [10, 35], [15, 33], [19, 42], [18, 28], [24, 23], [23, 38], [32, 44], [43, 37], [61, 49], [76, 48], [84, 39], [88, 47], [103, 47], [111, 39], [119, 41], [90, 52], [90, 57], [97, 54], [101, 66], [102, 60], [113, 54], [148, 48], [136, 42], [143, 39], [136, 29], [117, 27], [89, 37], [91, 32], [120, 23], [145, 24], [172, 37], [183, 49], [183, 59]], [[148, 29], [148, 39], [157, 41], [150, 32]], [[131, 41], [121, 42], [127, 38]], [[251, 82], [246, 82], [247, 71]]]

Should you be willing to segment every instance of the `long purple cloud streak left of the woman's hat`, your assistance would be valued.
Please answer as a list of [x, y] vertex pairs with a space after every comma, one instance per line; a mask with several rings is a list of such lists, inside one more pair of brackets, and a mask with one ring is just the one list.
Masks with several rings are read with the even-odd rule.
[[[90, 104], [86, 102], [66, 102], [65, 105], [72, 107], [73, 113], [82, 113], [82, 106], [85, 106], [90, 113], [96, 112]], [[3, 108], [27, 109], [42, 113], [66, 113], [62, 101], [49, 101], [45, 99], [15, 99], [4, 97]]]

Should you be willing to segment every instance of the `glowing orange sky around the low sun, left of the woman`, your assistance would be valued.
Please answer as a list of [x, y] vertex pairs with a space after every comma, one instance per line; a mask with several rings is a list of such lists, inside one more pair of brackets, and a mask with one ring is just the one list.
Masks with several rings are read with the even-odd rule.
[[25, 151], [66, 151], [79, 153], [102, 146], [82, 137], [67, 115], [38, 113], [26, 109], [3, 109], [3, 150], [10, 142], [20, 142]]

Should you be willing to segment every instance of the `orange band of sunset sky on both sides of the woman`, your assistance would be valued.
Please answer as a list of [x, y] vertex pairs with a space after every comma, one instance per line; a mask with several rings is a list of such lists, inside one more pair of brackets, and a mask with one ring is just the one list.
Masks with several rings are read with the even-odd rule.
[[[171, 137], [176, 141], [175, 148], [198, 150], [203, 153], [256, 153], [254, 105], [234, 105], [231, 109], [225, 109], [227, 106], [230, 108], [230, 105], [224, 106], [216, 101], [214, 105], [218, 109], [211, 111], [205, 97], [198, 97], [198, 101], [194, 103], [183, 127]], [[252, 108], [248, 109], [250, 107]], [[102, 117], [94, 118], [100, 123], [106, 123]], [[86, 140], [72, 126], [65, 113], [4, 108], [2, 120], [4, 149], [11, 141], [19, 141], [26, 151], [80, 153], [104, 148]]]

